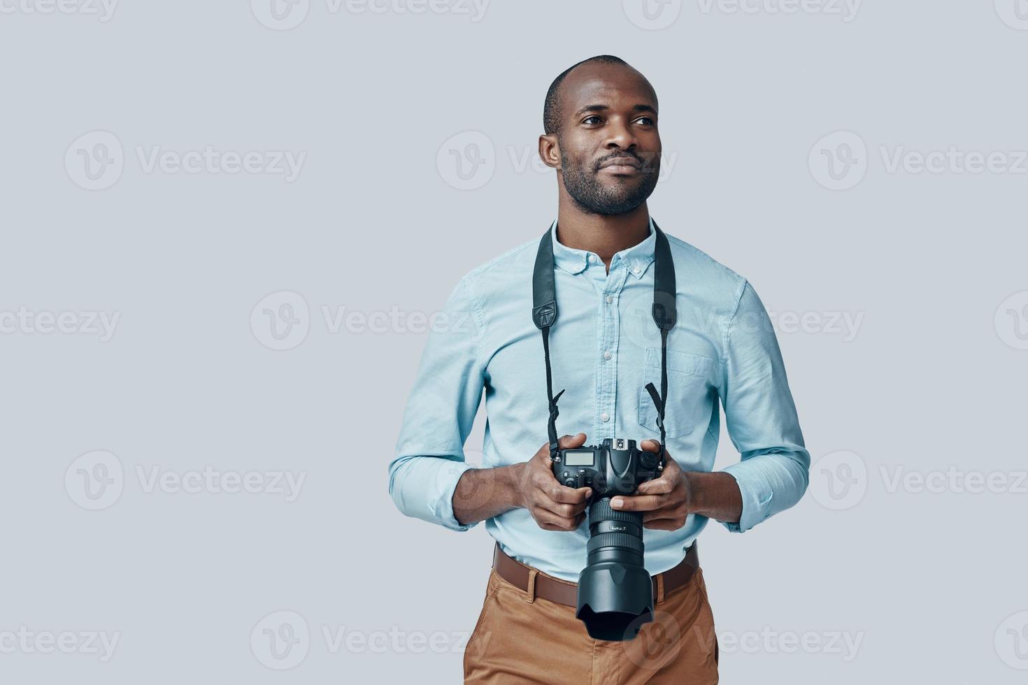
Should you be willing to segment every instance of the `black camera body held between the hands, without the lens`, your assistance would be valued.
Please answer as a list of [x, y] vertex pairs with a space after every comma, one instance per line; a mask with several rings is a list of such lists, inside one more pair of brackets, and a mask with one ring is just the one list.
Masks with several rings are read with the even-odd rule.
[[647, 481], [659, 478], [660, 454], [639, 450], [635, 441], [608, 437], [599, 446], [559, 450], [553, 475], [568, 488], [592, 488], [592, 499], [630, 495]]

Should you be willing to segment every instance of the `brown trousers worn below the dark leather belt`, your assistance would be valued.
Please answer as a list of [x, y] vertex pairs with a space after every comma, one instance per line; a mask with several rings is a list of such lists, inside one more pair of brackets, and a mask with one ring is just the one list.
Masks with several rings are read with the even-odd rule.
[[464, 682], [713, 685], [718, 641], [703, 573], [658, 598], [654, 620], [634, 640], [605, 642], [589, 637], [575, 607], [529, 597], [490, 571], [464, 652]]

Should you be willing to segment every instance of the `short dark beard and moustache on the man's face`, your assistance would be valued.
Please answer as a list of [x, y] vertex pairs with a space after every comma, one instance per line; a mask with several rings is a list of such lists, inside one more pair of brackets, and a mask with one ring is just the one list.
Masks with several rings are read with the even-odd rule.
[[[624, 153], [620, 153], [624, 154]], [[609, 155], [614, 156], [614, 155]], [[607, 158], [596, 162], [595, 167], [573, 162], [560, 150], [561, 177], [564, 180], [564, 190], [572, 199], [589, 214], [618, 215], [631, 212], [642, 204], [657, 187], [660, 176], [660, 155], [628, 155], [639, 160], [640, 173], [636, 177], [618, 178], [618, 183], [604, 186], [599, 182], [599, 164]]]

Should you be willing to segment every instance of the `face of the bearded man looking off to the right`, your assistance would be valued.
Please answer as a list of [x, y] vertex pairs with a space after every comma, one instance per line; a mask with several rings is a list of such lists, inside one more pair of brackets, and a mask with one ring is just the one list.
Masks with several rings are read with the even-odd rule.
[[621, 65], [583, 65], [561, 83], [561, 178], [585, 211], [630, 212], [653, 193], [660, 134], [653, 88]]

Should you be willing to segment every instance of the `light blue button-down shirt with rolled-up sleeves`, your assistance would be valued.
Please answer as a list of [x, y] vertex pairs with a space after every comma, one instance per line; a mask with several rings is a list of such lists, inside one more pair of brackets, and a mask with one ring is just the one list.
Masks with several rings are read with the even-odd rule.
[[[650, 313], [653, 221], [648, 238], [614, 256], [610, 273], [597, 255], [558, 242], [556, 222], [550, 231], [559, 311], [550, 331], [553, 391], [566, 389], [557, 434], [584, 432], [586, 445], [659, 440], [645, 389], [648, 382], [660, 387], [660, 332]], [[711, 470], [720, 398], [741, 455], [725, 470], [739, 484], [742, 518], [725, 525], [746, 531], [800, 499], [810, 455], [757, 293], [731, 269], [667, 237], [678, 310], [667, 341], [667, 450], [684, 470]], [[538, 238], [529, 240], [469, 272], [433, 319], [389, 466], [390, 494], [407, 516], [471, 528], [456, 521], [451, 500], [461, 475], [476, 467], [465, 462], [464, 445], [483, 390], [483, 467], [527, 461], [548, 442], [543, 341], [531, 320], [538, 248]], [[647, 570], [681, 562], [706, 521], [691, 515], [676, 531], [646, 529]], [[485, 529], [508, 555], [558, 578], [577, 581], [585, 566], [587, 521], [575, 531], [546, 531], [527, 509], [514, 508], [486, 520]]]

